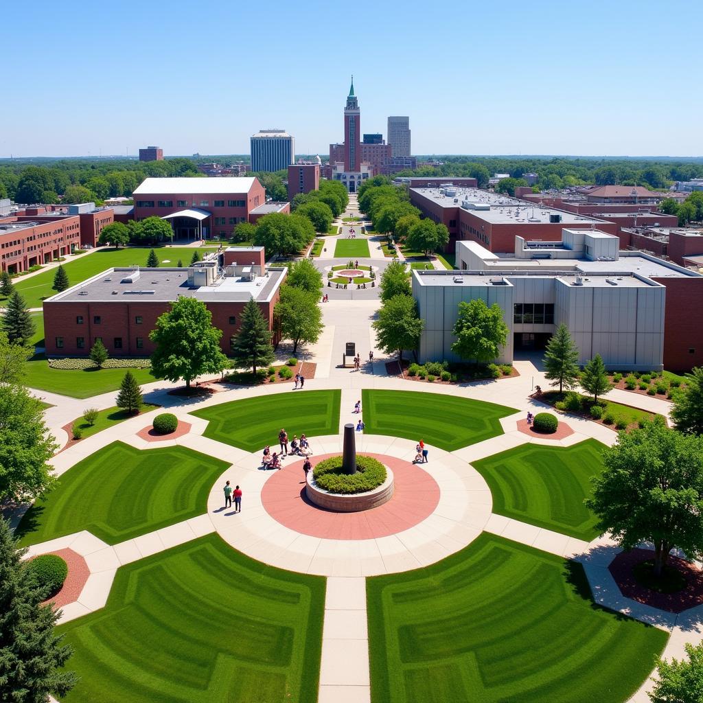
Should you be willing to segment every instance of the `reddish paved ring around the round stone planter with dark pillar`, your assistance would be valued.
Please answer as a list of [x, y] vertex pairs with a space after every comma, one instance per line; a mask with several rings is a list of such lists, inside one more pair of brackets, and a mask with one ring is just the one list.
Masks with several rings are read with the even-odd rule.
[[[334, 454], [311, 458], [318, 461]], [[324, 539], [374, 539], [397, 534], [423, 522], [439, 503], [439, 486], [432, 478], [432, 463], [413, 465], [382, 454], [366, 454], [384, 463], [394, 476], [393, 497], [378, 508], [362, 512], [332, 512], [312, 505], [304, 497], [303, 460], [290, 458], [264, 484], [262, 503], [274, 520], [296, 532]]]

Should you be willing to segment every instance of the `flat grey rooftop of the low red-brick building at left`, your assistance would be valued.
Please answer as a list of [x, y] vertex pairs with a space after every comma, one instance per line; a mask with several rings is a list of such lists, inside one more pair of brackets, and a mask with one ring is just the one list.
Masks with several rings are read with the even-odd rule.
[[138, 269], [134, 283], [123, 282], [138, 267], [108, 269], [83, 283], [47, 298], [44, 302], [172, 302], [179, 295], [203, 302], [264, 302], [283, 282], [288, 269], [271, 267], [264, 276], [219, 278], [214, 285], [188, 285], [188, 269]]

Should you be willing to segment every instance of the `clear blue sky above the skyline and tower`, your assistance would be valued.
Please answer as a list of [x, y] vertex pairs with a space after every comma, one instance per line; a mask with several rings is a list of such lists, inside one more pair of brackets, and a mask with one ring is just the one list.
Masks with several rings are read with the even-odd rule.
[[0, 156], [297, 153], [409, 115], [413, 153], [703, 155], [701, 0], [11, 2]]

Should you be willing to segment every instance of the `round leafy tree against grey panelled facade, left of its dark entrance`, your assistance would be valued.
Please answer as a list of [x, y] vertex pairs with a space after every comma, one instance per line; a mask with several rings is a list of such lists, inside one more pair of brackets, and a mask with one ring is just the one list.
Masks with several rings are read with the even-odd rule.
[[477, 363], [493, 361], [501, 354], [508, 337], [508, 325], [503, 321], [503, 310], [497, 303], [488, 307], [481, 299], [459, 303], [459, 316], [454, 323], [456, 341], [453, 352], [463, 359]]

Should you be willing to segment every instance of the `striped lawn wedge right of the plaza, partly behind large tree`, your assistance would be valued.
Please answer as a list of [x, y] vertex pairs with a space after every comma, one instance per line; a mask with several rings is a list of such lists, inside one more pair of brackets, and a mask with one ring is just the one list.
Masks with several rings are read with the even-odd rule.
[[591, 477], [603, 470], [604, 445], [586, 439], [569, 447], [523, 444], [472, 462], [493, 495], [493, 512], [590, 542], [595, 516], [583, 505]]

